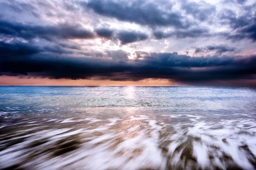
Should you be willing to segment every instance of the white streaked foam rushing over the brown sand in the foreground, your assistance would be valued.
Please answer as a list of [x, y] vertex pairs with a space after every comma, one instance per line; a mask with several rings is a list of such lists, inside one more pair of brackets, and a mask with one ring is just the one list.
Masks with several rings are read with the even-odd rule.
[[[175, 117], [195, 119], [168, 124], [152, 115], [91, 117], [77, 119], [81, 124], [76, 127], [20, 130], [0, 141], [2, 148], [20, 140], [0, 152], [0, 168], [16, 164], [25, 169], [254, 169], [254, 119], [204, 122], [185, 114], [170, 115], [170, 120]], [[68, 125], [70, 120], [61, 122]]]

